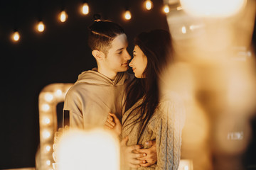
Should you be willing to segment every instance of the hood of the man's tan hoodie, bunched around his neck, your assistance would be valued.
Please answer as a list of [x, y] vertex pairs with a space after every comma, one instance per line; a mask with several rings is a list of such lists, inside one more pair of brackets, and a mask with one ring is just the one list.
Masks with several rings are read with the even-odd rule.
[[106, 77], [105, 75], [97, 72], [97, 69], [92, 69], [89, 71], [82, 72], [78, 76], [78, 80], [75, 82], [75, 84], [78, 83], [86, 83], [86, 84], [97, 84], [97, 85], [122, 85], [124, 82], [129, 79], [129, 75], [127, 72], [119, 72], [117, 73], [117, 77], [115, 77], [114, 81], [112, 81], [110, 78]]

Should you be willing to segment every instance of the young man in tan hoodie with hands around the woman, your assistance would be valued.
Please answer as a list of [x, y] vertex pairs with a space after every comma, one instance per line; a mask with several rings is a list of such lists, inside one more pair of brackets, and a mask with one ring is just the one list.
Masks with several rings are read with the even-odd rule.
[[[70, 128], [85, 130], [104, 127], [109, 112], [115, 113], [121, 120], [124, 89], [132, 79], [126, 72], [131, 56], [127, 52], [124, 30], [110, 21], [95, 21], [89, 30], [88, 44], [97, 69], [79, 75], [78, 81], [65, 96], [63, 108], [70, 114]], [[139, 145], [134, 145], [126, 150], [132, 153], [132, 150], [139, 148]], [[140, 152], [131, 154], [130, 166], [149, 166], [156, 162], [155, 146], [140, 149]], [[149, 154], [152, 152], [154, 154]]]

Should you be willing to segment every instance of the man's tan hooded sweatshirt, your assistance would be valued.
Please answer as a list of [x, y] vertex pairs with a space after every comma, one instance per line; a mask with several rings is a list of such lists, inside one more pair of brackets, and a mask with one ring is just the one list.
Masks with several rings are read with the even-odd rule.
[[121, 120], [124, 89], [131, 79], [127, 72], [118, 73], [114, 81], [94, 70], [82, 72], [65, 96], [70, 128], [103, 127], [109, 112]]

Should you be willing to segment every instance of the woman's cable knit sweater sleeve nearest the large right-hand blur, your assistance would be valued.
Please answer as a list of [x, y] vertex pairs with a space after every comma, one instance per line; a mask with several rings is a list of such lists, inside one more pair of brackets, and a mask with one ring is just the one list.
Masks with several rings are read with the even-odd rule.
[[156, 123], [156, 169], [176, 170], [181, 158], [181, 130], [185, 119], [180, 101], [164, 101]]

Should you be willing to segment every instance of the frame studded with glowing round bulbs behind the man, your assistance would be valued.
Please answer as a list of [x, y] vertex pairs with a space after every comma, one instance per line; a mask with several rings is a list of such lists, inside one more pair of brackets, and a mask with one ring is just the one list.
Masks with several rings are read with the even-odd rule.
[[39, 94], [39, 131], [40, 131], [40, 166], [41, 169], [53, 169], [53, 139], [58, 130], [58, 103], [65, 100], [65, 94], [73, 84], [49, 84]]

